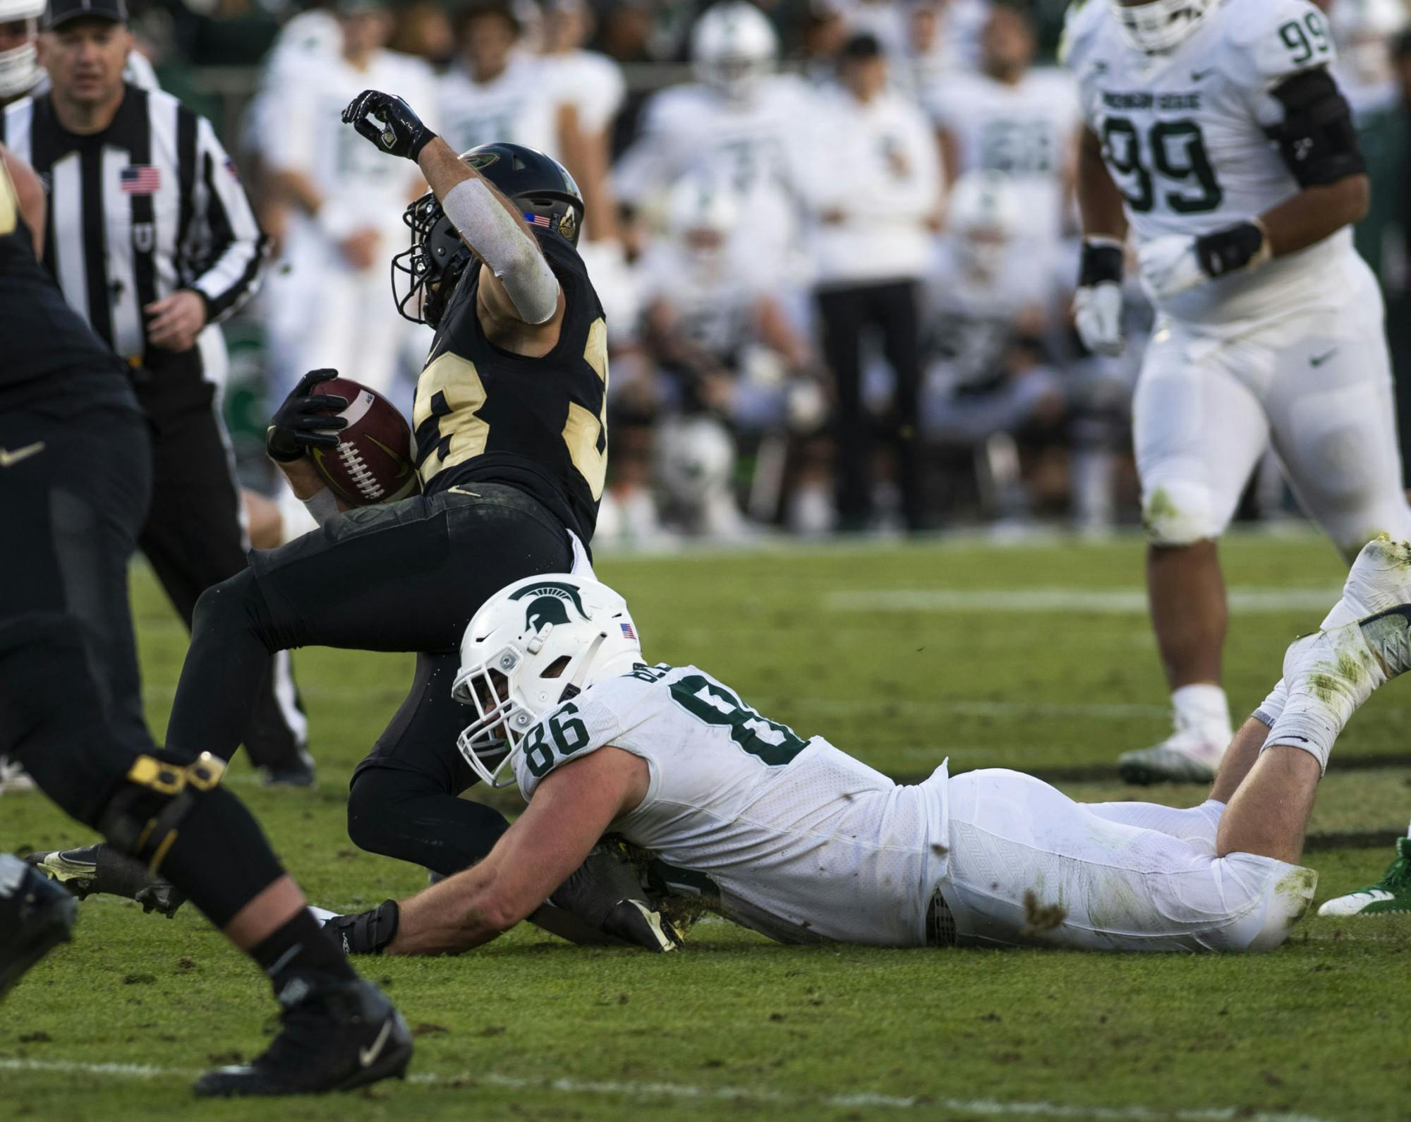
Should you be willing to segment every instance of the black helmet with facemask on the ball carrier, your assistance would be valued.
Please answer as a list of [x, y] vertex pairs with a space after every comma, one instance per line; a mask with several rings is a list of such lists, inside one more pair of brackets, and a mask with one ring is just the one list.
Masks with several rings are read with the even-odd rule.
[[[523, 144], [481, 144], [460, 158], [519, 203], [531, 226], [579, 244], [583, 195], [557, 159]], [[402, 222], [412, 231], [412, 244], [392, 258], [392, 299], [405, 319], [435, 327], [476, 255], [432, 192], [408, 206]]]

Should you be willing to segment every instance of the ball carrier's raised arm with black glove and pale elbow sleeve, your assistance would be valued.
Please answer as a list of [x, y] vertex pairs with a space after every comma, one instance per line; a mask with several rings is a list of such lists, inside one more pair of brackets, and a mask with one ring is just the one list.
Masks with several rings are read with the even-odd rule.
[[485, 333], [522, 354], [547, 353], [559, 340], [564, 298], [519, 209], [461, 162], [401, 97], [364, 90], [343, 110], [343, 120], [384, 152], [413, 161], [466, 244], [485, 263]]

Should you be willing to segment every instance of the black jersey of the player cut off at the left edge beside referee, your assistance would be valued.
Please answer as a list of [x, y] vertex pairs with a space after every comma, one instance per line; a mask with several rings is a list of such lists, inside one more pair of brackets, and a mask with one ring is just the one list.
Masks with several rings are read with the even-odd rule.
[[0, 161], [0, 404], [37, 401], [137, 408], [127, 367], [34, 255], [18, 192]]

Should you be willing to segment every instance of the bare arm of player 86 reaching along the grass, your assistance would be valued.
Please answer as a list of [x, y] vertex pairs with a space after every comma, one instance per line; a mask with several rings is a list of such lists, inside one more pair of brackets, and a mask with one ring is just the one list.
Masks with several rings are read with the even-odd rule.
[[490, 857], [399, 906], [387, 954], [457, 954], [539, 907], [577, 869], [614, 819], [646, 795], [646, 762], [600, 748], [539, 783], [529, 809]]

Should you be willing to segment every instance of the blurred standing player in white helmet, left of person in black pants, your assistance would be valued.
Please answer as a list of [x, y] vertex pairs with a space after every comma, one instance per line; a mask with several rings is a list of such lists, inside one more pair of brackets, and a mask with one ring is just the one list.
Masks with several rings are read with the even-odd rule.
[[708, 8], [691, 31], [698, 80], [655, 95], [642, 134], [617, 167], [618, 196], [636, 207], [686, 172], [727, 182], [739, 198], [751, 267], [797, 279], [799, 196], [811, 135], [811, 95], [775, 73], [779, 41], [744, 0]]

